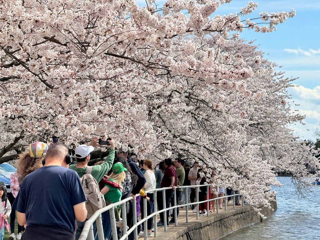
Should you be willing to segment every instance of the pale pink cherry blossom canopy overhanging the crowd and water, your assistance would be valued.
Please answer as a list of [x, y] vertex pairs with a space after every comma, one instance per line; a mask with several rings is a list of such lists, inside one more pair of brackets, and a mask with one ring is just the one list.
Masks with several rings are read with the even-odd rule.
[[[287, 128], [293, 79], [251, 43], [295, 11], [214, 15], [231, 0], [0, 0], [0, 157], [53, 134], [74, 148], [112, 135], [139, 158], [180, 154], [268, 205], [274, 171], [301, 182], [315, 152]], [[186, 14], [188, 13], [188, 15]]]

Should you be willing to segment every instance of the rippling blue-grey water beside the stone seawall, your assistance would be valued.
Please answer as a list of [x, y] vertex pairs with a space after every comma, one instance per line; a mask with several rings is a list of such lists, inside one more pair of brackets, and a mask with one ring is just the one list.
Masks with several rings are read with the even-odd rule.
[[241, 228], [219, 240], [319, 240], [320, 239], [320, 187], [306, 191], [301, 198], [289, 177], [278, 177], [284, 184], [274, 187], [278, 209], [262, 222]]

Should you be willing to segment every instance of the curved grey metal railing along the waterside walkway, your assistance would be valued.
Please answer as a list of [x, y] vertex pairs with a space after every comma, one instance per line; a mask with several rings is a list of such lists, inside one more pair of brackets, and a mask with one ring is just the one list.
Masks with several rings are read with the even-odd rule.
[[[82, 230], [82, 233], [79, 237], [79, 240], [94, 240], [94, 233], [93, 233], [93, 223], [94, 221], [96, 221], [96, 224], [97, 224], [97, 234], [98, 234], [98, 238], [99, 240], [104, 240], [105, 239], [105, 236], [103, 234], [103, 228], [102, 228], [102, 213], [103, 212], [106, 212], [109, 210], [109, 213], [110, 213], [110, 222], [111, 222], [111, 231], [112, 231], [112, 239], [113, 240], [116, 240], [118, 239], [118, 236], [117, 236], [117, 229], [116, 229], [116, 217], [115, 217], [115, 207], [117, 206], [120, 206], [121, 205], [121, 214], [122, 214], [122, 222], [123, 222], [123, 232], [122, 232], [122, 237], [119, 239], [119, 240], [124, 240], [124, 239], [128, 239], [128, 236], [133, 232], [133, 236], [134, 236], [134, 239], [137, 239], [138, 238], [138, 231], [137, 231], [137, 227], [138, 225], [140, 224], [144, 224], [144, 239], [146, 240], [147, 239], [147, 234], [148, 234], [148, 231], [147, 231], [147, 220], [154, 217], [154, 237], [157, 237], [157, 215], [158, 213], [162, 213], [162, 212], [166, 212], [170, 209], [173, 209], [173, 214], [174, 214], [174, 226], [178, 226], [178, 222], [177, 222], [177, 208], [180, 208], [180, 207], [186, 207], [186, 223], [188, 223], [188, 206], [189, 205], [196, 205], [196, 219], [199, 219], [199, 204], [201, 203], [207, 203], [206, 204], [206, 209], [207, 209], [207, 216], [209, 216], [209, 205], [210, 205], [210, 202], [213, 201], [213, 200], [216, 200], [216, 212], [218, 213], [219, 212], [219, 199], [221, 198], [225, 198], [225, 201], [224, 201], [224, 210], [226, 211], [227, 210], [227, 198], [228, 197], [233, 197], [233, 208], [235, 208], [235, 201], [236, 201], [236, 196], [239, 196], [239, 194], [232, 194], [232, 195], [228, 195], [227, 196], [227, 189], [225, 188], [225, 193], [224, 193], [224, 196], [222, 197], [219, 197], [219, 188], [218, 186], [216, 187], [216, 191], [218, 192], [218, 197], [216, 198], [212, 198], [210, 199], [210, 196], [209, 196], [209, 186], [211, 184], [204, 184], [204, 185], [192, 185], [192, 186], [183, 186], [183, 187], [174, 187], [175, 189], [177, 188], [182, 188], [184, 189], [185, 191], [185, 195], [188, 196], [188, 188], [195, 188], [196, 189], [196, 201], [194, 203], [188, 203], [188, 200], [186, 201], [187, 203], [186, 204], [182, 204], [182, 205], [177, 205], [177, 202], [176, 202], [176, 191], [173, 191], [173, 205], [174, 206], [171, 206], [171, 207], [166, 207], [166, 196], [165, 196], [165, 190], [167, 189], [172, 189], [171, 187], [168, 187], [168, 188], [155, 188], [155, 189], [152, 189], [152, 190], [149, 190], [149, 191], [146, 191], [145, 193], [148, 194], [148, 193], [154, 193], [154, 212], [152, 212], [150, 215], [147, 214], [147, 199], [143, 199], [143, 213], [144, 213], [144, 218], [142, 218], [140, 221], [137, 222], [137, 205], [136, 205], [136, 199], [135, 198], [132, 198], [132, 197], [127, 197], [119, 202], [116, 202], [114, 204], [110, 204], [104, 208], [101, 208], [99, 209], [98, 211], [96, 211], [92, 217], [90, 219], [88, 219], [86, 221], [86, 223], [84, 224], [84, 228]], [[204, 200], [204, 201], [200, 201], [199, 202], [199, 187], [204, 187], [206, 186], [207, 187], [207, 193], [206, 193], [206, 196], [207, 196], [207, 199]], [[163, 209], [162, 210], [159, 210], [157, 211], [157, 197], [156, 197], [156, 193], [159, 192], [159, 191], [162, 191], [162, 201], [163, 201]], [[140, 194], [137, 194], [136, 196], [140, 196]], [[132, 201], [132, 216], [133, 216], [133, 225], [130, 229], [127, 229], [127, 213], [126, 213], [126, 203], [128, 201]], [[244, 200], [242, 199], [242, 206], [244, 205]], [[142, 210], [142, 209], [141, 209]], [[167, 218], [164, 217], [164, 231], [167, 231]]]

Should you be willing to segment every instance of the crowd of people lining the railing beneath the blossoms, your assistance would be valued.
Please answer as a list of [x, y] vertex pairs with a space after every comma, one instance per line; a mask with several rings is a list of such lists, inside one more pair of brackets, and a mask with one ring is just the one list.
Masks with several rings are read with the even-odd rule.
[[[108, 138], [110, 147], [108, 156], [102, 161], [89, 166], [91, 152], [99, 147], [99, 138], [95, 137], [88, 145], [80, 145], [74, 155], [67, 146], [60, 142], [49, 146], [43, 142], [29, 145], [29, 150], [19, 156], [18, 171], [11, 176], [12, 196], [6, 198], [6, 192], [0, 186], [0, 240], [4, 231], [9, 231], [7, 218], [10, 215], [10, 239], [79, 239], [85, 222], [99, 208], [116, 203], [129, 196], [135, 198], [137, 214], [133, 214], [133, 201], [126, 202], [127, 226], [123, 226], [121, 206], [114, 208], [117, 236], [122, 235], [124, 227], [131, 228], [134, 219], [144, 218], [154, 212], [154, 199], [157, 197], [158, 211], [174, 206], [174, 204], [194, 203], [196, 200], [196, 186], [207, 183], [206, 173], [199, 168], [199, 163], [191, 164], [181, 158], [174, 160], [167, 158], [159, 162], [156, 167], [152, 159], [134, 160], [130, 149], [118, 148]], [[186, 176], [187, 175], [187, 176]], [[212, 171], [212, 178], [215, 172]], [[212, 184], [212, 182], [210, 182]], [[213, 185], [213, 184], [212, 184]], [[182, 186], [188, 188], [188, 193]], [[170, 188], [169, 188], [170, 187]], [[169, 188], [165, 190], [165, 205], [162, 191], [153, 192], [155, 188]], [[174, 199], [174, 191], [175, 197]], [[209, 188], [209, 196], [217, 197], [215, 188]], [[224, 195], [224, 188], [219, 188], [218, 196]], [[147, 194], [145, 193], [147, 192]], [[144, 203], [140, 196], [147, 200]], [[199, 201], [207, 196], [207, 187], [199, 187]], [[236, 203], [237, 204], [237, 203]], [[12, 210], [11, 210], [12, 206]], [[205, 204], [189, 205], [193, 212], [200, 215], [215, 212], [215, 200], [206, 209]], [[219, 199], [222, 208], [222, 199]], [[15, 214], [17, 211], [18, 232], [15, 235]], [[102, 227], [106, 239], [112, 239], [110, 211], [103, 212]], [[169, 220], [169, 216], [171, 219]], [[176, 217], [179, 216], [177, 208]], [[166, 221], [164, 221], [166, 219]], [[175, 214], [170, 211], [160, 213], [157, 227], [175, 223]], [[147, 229], [139, 225], [139, 236], [153, 236], [153, 218], [147, 221]], [[21, 232], [23, 234], [21, 235]], [[93, 232], [98, 239], [97, 227], [94, 222]], [[128, 239], [134, 238], [133, 233]]]

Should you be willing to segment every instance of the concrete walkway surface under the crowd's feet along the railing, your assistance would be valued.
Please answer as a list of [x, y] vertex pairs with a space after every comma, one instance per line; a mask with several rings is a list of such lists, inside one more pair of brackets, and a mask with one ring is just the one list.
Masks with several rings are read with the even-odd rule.
[[[220, 219], [221, 217], [223, 218], [223, 216], [227, 216], [229, 215], [231, 212], [235, 212], [235, 210], [244, 210], [244, 208], [249, 208], [248, 205], [245, 205], [244, 207], [240, 206], [236, 206], [235, 209], [233, 208], [233, 204], [227, 204], [227, 211], [224, 210], [224, 204], [222, 205], [223, 209], [219, 209], [219, 213], [217, 212], [213, 212], [213, 213], [209, 213], [209, 216], [205, 215], [205, 216], [201, 216], [199, 215], [199, 219], [196, 219], [196, 213], [192, 212], [191, 209], [188, 209], [188, 220], [189, 222], [186, 223], [186, 209], [184, 208], [180, 208], [180, 212], [179, 212], [179, 216], [178, 216], [178, 226], [174, 226], [174, 224], [170, 224], [167, 227], [167, 231], [164, 231], [164, 227], [158, 227], [157, 228], [157, 240], [171, 240], [171, 239], [176, 239], [175, 237], [173, 237], [177, 232], [179, 232], [180, 230], [183, 231], [183, 229], [190, 227], [190, 225], [193, 224], [197, 224], [200, 222], [206, 222], [207, 220], [212, 220], [213, 218], [215, 219]], [[238, 212], [238, 211], [236, 211]], [[229, 213], [229, 214], [226, 214]], [[171, 218], [169, 217], [169, 220]], [[158, 214], [157, 216], [157, 220], [160, 220], [160, 216]], [[154, 233], [153, 233], [154, 234]], [[151, 238], [151, 237], [149, 237]], [[138, 239], [143, 239], [143, 237], [138, 237]]]

